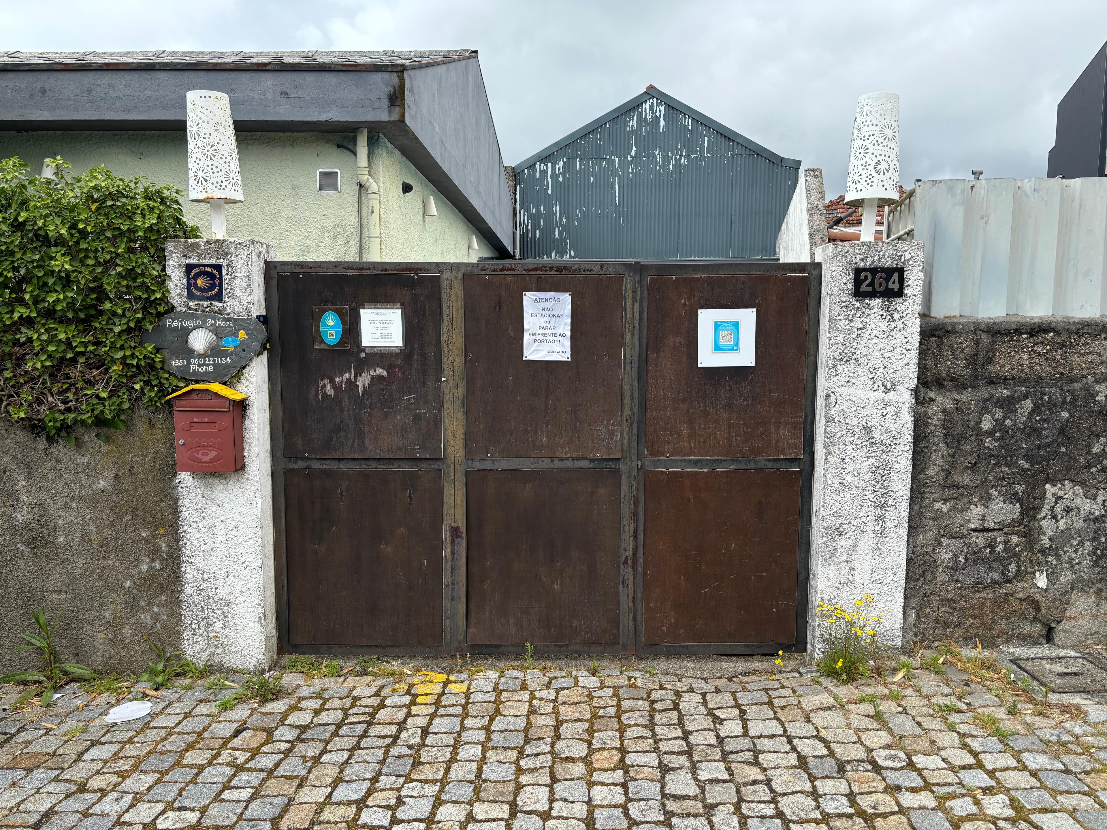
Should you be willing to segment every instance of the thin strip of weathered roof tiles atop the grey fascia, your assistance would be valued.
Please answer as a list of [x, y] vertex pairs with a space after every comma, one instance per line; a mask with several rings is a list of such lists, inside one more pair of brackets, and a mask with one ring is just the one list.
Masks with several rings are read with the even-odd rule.
[[475, 49], [379, 52], [0, 52], [0, 69], [391, 70], [449, 63]]

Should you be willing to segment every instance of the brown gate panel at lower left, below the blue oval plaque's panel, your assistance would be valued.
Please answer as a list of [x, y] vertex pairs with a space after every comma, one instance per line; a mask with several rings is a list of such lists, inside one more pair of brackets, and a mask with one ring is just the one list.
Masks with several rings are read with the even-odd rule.
[[442, 644], [442, 471], [284, 471], [289, 644]]

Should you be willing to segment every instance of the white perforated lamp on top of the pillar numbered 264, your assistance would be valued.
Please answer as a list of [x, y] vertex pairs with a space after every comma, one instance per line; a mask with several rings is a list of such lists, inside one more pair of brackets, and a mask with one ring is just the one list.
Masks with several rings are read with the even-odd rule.
[[846, 204], [861, 208], [861, 241], [877, 234], [877, 207], [899, 200], [899, 95], [870, 92], [857, 101], [849, 145]]

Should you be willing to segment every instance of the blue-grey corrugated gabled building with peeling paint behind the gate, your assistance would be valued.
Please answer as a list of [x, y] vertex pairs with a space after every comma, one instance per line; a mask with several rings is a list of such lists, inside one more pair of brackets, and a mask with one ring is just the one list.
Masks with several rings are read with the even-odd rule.
[[516, 165], [517, 252], [773, 257], [799, 164], [650, 86]]

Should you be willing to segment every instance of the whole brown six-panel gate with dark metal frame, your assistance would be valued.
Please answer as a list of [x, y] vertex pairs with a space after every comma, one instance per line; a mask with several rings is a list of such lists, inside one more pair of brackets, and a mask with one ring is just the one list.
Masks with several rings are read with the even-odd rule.
[[[283, 650], [806, 649], [820, 266], [270, 262], [266, 283]], [[571, 360], [523, 360], [524, 292], [571, 294]], [[697, 366], [697, 312], [728, 308], [756, 309], [755, 365]], [[362, 347], [381, 313], [402, 346]]]

